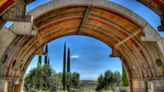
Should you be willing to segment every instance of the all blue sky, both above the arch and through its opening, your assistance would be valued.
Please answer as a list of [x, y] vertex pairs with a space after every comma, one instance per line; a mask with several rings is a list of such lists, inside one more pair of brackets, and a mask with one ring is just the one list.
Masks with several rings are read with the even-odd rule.
[[[28, 5], [27, 11], [38, 7], [51, 0], [36, 0]], [[160, 25], [160, 18], [146, 6], [140, 4], [136, 0], [110, 0], [121, 6], [124, 6], [145, 19], [154, 29]], [[6, 24], [9, 26], [9, 23]], [[163, 33], [160, 33], [163, 36]], [[52, 68], [56, 72], [62, 71], [63, 64], [63, 45], [67, 42], [67, 47], [71, 49], [71, 71], [81, 74], [81, 79], [96, 80], [97, 77], [110, 69], [112, 71], [122, 71], [121, 61], [119, 58], [110, 58], [112, 49], [103, 42], [86, 37], [86, 36], [67, 36], [56, 39], [49, 43], [49, 58]], [[35, 56], [28, 67], [30, 69], [36, 67], [38, 57]]]

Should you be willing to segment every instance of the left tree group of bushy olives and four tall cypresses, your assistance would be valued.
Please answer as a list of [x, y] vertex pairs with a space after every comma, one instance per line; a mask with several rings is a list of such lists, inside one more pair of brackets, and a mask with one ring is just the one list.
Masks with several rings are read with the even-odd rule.
[[55, 73], [55, 70], [53, 70], [50, 65], [50, 59], [48, 58], [48, 45], [46, 45], [44, 64], [42, 64], [42, 56], [39, 55], [37, 67], [31, 69], [25, 77], [24, 89], [27, 92], [32, 92], [36, 90], [49, 91], [57, 89], [70, 90], [70, 88], [78, 88], [80, 83], [80, 74], [77, 72], [71, 73], [70, 64], [70, 49], [68, 48], [66, 54], [65, 44], [63, 53], [63, 72]]

